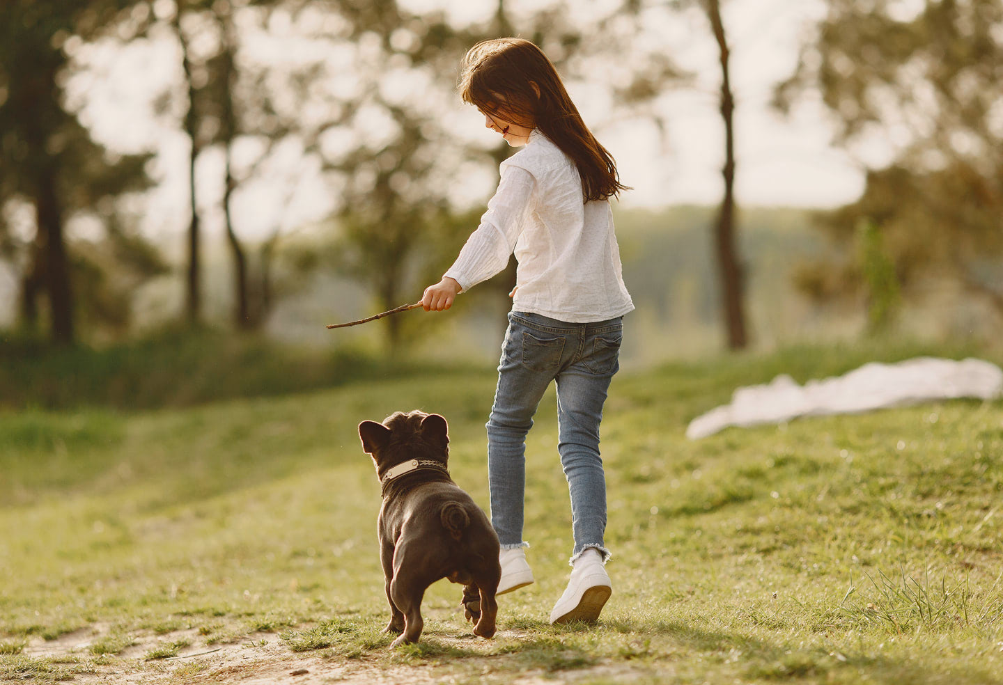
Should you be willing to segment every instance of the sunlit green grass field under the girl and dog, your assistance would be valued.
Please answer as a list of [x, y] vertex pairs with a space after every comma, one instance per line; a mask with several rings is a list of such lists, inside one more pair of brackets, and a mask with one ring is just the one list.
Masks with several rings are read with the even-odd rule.
[[442, 581], [421, 643], [397, 650], [356, 425], [443, 414], [453, 478], [486, 506], [491, 368], [7, 411], [0, 681], [1003, 682], [1003, 401], [683, 434], [738, 385], [920, 352], [964, 353], [803, 348], [619, 376], [603, 423], [614, 594], [595, 627], [547, 623], [572, 546], [552, 391], [528, 448], [537, 583], [499, 598], [484, 641]]

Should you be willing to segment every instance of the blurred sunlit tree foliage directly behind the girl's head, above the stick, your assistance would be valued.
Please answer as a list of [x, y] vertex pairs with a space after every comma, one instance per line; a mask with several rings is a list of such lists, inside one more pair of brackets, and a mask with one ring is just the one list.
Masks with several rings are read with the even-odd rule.
[[[570, 2], [528, 9], [518, 17], [498, 2], [490, 21], [468, 26], [450, 24], [439, 11], [419, 12], [391, 1], [323, 10], [292, 3], [277, 11], [289, 11], [297, 27], [318, 22], [340, 27], [326, 34], [300, 28], [348, 55], [338, 73], [331, 72], [329, 63], [319, 63], [304, 79], [309, 88], [300, 101], [316, 99], [319, 80], [343, 78], [345, 68], [354, 74], [354, 82], [331, 98], [340, 118], [316, 128], [315, 137], [308, 137], [309, 149], [320, 154], [339, 187], [332, 221], [335, 263], [362, 279], [381, 310], [415, 300], [423, 286], [439, 278], [464, 235], [476, 227], [475, 215], [465, 208], [478, 206], [479, 200], [457, 198], [457, 178], [477, 164], [496, 164], [510, 151], [501, 145], [485, 153], [458, 139], [452, 129], [456, 66], [474, 42], [519, 33], [541, 44], [566, 76], [589, 73], [593, 81], [591, 60], [622, 52], [629, 58], [618, 61], [613, 68], [617, 76], [607, 76], [606, 86], [622, 92], [625, 105], [649, 115], [646, 105], [680, 76], [661, 49], [634, 46], [643, 19], [633, 2], [615, 3], [587, 18]], [[314, 21], [307, 23], [307, 18]], [[374, 132], [380, 127], [381, 133]], [[356, 142], [341, 149], [325, 144], [346, 130]], [[393, 320], [387, 326], [391, 348], [399, 346], [400, 326], [406, 325]], [[409, 330], [408, 339], [414, 333]]]

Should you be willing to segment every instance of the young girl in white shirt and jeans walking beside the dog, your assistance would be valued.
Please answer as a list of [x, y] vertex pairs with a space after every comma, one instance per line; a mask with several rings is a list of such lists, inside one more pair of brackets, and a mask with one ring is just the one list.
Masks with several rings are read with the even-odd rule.
[[609, 198], [627, 189], [554, 65], [530, 41], [474, 45], [463, 59], [459, 91], [486, 127], [522, 149], [501, 162], [480, 225], [421, 304], [425, 311], [449, 309], [457, 294], [505, 269], [515, 252], [513, 311], [487, 421], [491, 524], [501, 543], [497, 593], [533, 583], [523, 540], [526, 435], [553, 380], [575, 547], [571, 580], [551, 623], [595, 621], [612, 592], [604, 568], [610, 553], [603, 544], [599, 423], [619, 368], [622, 318], [634, 309]]

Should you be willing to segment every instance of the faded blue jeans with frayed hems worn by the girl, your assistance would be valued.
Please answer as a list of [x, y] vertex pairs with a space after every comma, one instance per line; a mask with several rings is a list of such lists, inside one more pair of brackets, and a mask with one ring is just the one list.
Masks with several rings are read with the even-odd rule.
[[557, 382], [558, 452], [571, 492], [574, 562], [603, 546], [606, 477], [599, 455], [599, 423], [613, 374], [620, 368], [623, 317], [573, 324], [540, 314], [511, 312], [501, 346], [498, 384], [487, 421], [487, 477], [491, 525], [503, 549], [523, 541], [526, 435], [551, 381]]

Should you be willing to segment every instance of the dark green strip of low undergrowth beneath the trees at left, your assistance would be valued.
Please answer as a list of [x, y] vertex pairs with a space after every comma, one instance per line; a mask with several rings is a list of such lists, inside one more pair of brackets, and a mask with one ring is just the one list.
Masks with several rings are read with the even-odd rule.
[[[362, 348], [311, 350], [261, 336], [169, 329], [106, 348], [0, 336], [0, 408], [145, 408], [279, 395], [437, 368]], [[455, 371], [462, 373], [463, 366]], [[39, 438], [41, 439], [41, 438]]]

